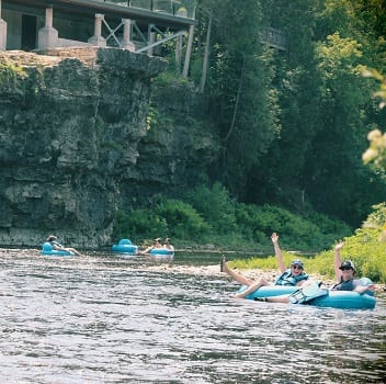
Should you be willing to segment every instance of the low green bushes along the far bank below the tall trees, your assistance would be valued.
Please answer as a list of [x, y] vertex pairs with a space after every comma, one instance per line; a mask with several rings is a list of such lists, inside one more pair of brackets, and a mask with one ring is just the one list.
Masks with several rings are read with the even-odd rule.
[[302, 217], [284, 208], [238, 203], [215, 183], [186, 192], [183, 200], [160, 197], [152, 210], [139, 208], [117, 215], [114, 237], [173, 238], [174, 245], [213, 244], [217, 248], [271, 252], [271, 234], [277, 231], [283, 249], [322, 250], [350, 228], [317, 213]]

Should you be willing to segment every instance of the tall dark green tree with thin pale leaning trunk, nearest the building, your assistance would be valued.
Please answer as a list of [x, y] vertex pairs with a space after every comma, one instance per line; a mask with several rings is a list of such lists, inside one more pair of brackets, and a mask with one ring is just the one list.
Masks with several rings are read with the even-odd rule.
[[248, 172], [266, 151], [275, 129], [270, 54], [259, 42], [260, 2], [203, 0], [204, 5], [213, 15], [206, 93], [223, 147], [214, 173], [242, 196]]

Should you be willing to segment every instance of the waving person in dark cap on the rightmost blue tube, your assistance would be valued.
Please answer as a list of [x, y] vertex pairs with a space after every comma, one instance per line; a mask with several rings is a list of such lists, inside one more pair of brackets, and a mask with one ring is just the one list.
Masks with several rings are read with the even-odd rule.
[[332, 291], [354, 291], [364, 293], [367, 290], [374, 291], [375, 285], [361, 285], [359, 279], [355, 276], [355, 266], [351, 260], [341, 261], [340, 250], [343, 248], [344, 242], [340, 241], [336, 245], [333, 256], [333, 268], [336, 272], [337, 283], [331, 287]]

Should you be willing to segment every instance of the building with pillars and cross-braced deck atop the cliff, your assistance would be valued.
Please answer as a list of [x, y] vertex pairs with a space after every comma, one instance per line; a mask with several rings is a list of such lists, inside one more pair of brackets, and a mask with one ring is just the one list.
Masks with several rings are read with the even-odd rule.
[[194, 0], [0, 0], [0, 49], [92, 45], [152, 54], [195, 24]]

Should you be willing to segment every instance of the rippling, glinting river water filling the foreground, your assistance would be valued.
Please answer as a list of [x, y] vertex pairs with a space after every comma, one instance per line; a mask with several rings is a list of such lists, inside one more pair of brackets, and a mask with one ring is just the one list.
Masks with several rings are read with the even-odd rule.
[[354, 312], [234, 300], [224, 276], [109, 255], [0, 264], [1, 383], [386, 382], [384, 293]]

